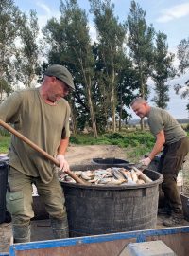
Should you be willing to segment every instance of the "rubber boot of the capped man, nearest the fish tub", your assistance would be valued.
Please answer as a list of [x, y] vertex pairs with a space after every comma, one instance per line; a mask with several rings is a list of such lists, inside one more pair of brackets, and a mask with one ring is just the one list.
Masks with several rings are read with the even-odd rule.
[[50, 218], [51, 227], [53, 228], [53, 235], [55, 239], [62, 239], [69, 237], [67, 217], [63, 219]]

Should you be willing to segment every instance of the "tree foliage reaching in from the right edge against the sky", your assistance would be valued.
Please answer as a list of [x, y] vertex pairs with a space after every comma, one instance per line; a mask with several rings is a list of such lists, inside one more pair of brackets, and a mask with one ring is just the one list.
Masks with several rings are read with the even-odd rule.
[[[180, 60], [179, 70], [180, 74], [184, 74], [189, 69], [189, 38], [182, 39], [178, 46], [178, 58]], [[189, 100], [189, 79], [185, 84], [175, 85], [176, 93], [181, 95], [181, 98], [188, 98]], [[189, 103], [186, 105], [189, 113]]]

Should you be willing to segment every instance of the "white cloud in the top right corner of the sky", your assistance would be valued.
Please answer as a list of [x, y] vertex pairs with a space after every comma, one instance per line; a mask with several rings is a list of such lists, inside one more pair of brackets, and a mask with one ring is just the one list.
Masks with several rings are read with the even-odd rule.
[[183, 3], [173, 6], [169, 9], [163, 9], [162, 15], [156, 20], [160, 23], [166, 23], [174, 19], [179, 19], [189, 14], [189, 3]]

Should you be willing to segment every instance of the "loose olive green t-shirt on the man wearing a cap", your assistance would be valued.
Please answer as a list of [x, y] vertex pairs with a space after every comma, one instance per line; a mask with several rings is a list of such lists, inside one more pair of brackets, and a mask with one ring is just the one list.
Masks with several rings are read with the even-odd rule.
[[[14, 92], [0, 105], [0, 119], [13, 124], [15, 130], [53, 156], [60, 140], [70, 136], [69, 117], [67, 101], [61, 99], [57, 105], [49, 105], [43, 101], [39, 88]], [[14, 135], [9, 164], [23, 174], [40, 176], [44, 183], [53, 177], [53, 164]]]

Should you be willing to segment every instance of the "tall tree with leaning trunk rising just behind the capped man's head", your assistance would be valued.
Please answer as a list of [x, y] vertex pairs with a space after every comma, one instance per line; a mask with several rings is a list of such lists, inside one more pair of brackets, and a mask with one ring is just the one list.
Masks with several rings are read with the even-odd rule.
[[[64, 3], [65, 2], [65, 3]], [[78, 7], [77, 0], [60, 1], [60, 22], [55, 19], [48, 22], [45, 31], [51, 34], [52, 56], [58, 54], [60, 63], [70, 66], [80, 74], [78, 86], [83, 87], [86, 95], [94, 137], [97, 137], [92, 87], [94, 76], [94, 58], [89, 36], [86, 12]], [[55, 53], [55, 54], [54, 54]]]

